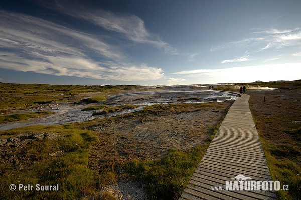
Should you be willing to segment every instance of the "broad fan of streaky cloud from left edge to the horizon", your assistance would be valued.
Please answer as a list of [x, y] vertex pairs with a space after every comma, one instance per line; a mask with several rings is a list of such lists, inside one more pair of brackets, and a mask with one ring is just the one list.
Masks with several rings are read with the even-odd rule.
[[1, 68], [122, 81], [165, 77], [161, 68], [127, 62], [97, 35], [13, 12], [0, 11], [0, 19]]

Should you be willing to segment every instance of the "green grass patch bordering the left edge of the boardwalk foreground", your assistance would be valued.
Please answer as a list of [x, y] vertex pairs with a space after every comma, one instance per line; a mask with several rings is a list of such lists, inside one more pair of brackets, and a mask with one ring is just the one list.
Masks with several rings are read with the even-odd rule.
[[211, 128], [211, 136], [196, 147], [189, 150], [170, 148], [155, 160], [132, 160], [123, 165], [123, 176], [143, 182], [149, 199], [178, 199], [221, 122]]

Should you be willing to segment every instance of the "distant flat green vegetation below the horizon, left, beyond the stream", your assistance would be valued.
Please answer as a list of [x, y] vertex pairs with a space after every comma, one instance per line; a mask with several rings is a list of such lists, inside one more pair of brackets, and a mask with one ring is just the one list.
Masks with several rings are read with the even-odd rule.
[[138, 85], [48, 85], [0, 83], [0, 109], [24, 108], [51, 102], [67, 102], [70, 95], [87, 92], [114, 92], [140, 89]]

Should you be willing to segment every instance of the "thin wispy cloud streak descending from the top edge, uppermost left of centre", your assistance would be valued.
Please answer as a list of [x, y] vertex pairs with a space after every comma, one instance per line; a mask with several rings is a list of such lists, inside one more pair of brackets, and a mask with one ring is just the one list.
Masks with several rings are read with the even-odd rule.
[[[42, 2], [42, 5], [43, 3], [44, 2]], [[138, 16], [128, 13], [114, 13], [99, 8], [86, 10], [84, 5], [77, 3], [70, 6], [68, 1], [55, 1], [55, 3], [52, 4], [52, 9], [93, 23], [108, 31], [119, 33], [133, 42], [152, 45], [161, 49], [164, 53], [178, 54], [176, 48], [161, 41], [156, 34], [147, 31], [144, 21]], [[44, 6], [45, 5], [46, 4], [44, 4]]]

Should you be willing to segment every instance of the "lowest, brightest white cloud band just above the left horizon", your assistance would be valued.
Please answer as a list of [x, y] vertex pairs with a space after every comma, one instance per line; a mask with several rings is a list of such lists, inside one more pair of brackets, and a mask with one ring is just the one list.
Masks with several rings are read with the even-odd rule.
[[[12, 61], [12, 58], [14, 61]], [[71, 56], [44, 56], [44, 59], [47, 59], [47, 62], [24, 59], [18, 55], [10, 54], [9, 57], [0, 59], [0, 64], [2, 68], [9, 70], [104, 80], [146, 81], [158, 80], [164, 77], [161, 68], [148, 67], [146, 65], [117, 65], [110, 63], [109, 66], [104, 67], [102, 63]]]

